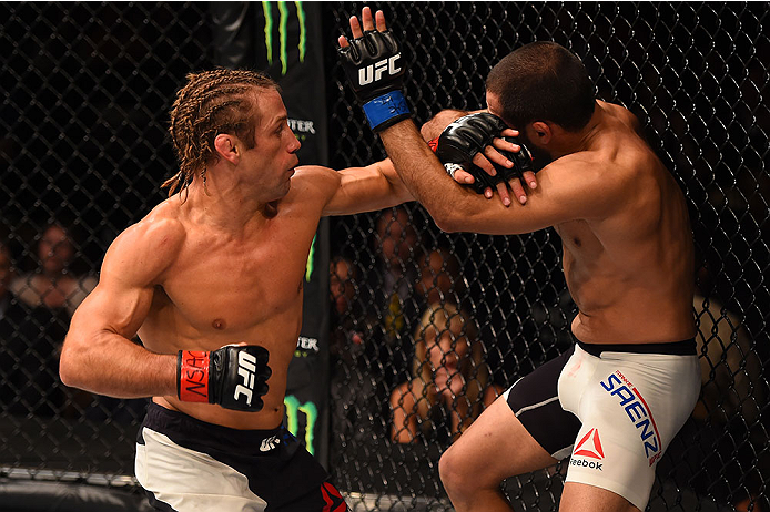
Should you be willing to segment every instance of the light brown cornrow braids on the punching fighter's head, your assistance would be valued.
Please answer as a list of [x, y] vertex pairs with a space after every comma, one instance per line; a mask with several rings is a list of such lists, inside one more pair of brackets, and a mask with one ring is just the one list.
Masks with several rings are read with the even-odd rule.
[[171, 109], [169, 132], [180, 168], [161, 186], [169, 187], [169, 197], [186, 191], [199, 171], [205, 186], [206, 163], [216, 158], [217, 134], [236, 135], [247, 149], [254, 147], [255, 88], [280, 91], [277, 83], [255, 71], [216, 69], [188, 74]]

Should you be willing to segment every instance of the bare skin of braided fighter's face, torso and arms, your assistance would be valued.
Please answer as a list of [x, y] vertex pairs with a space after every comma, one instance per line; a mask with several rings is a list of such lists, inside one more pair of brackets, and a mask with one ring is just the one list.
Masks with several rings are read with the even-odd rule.
[[[256, 146], [217, 142], [220, 158], [125, 229], [72, 318], [61, 356], [68, 386], [156, 403], [235, 429], [283, 419], [286, 371], [302, 322], [305, 265], [318, 219], [412, 197], [389, 161], [335, 172], [296, 167], [300, 143], [277, 92], [257, 94]], [[185, 192], [182, 192], [184, 196]], [[143, 347], [130, 341], [139, 335]], [[176, 398], [176, 351], [260, 345], [273, 371], [259, 412]]]

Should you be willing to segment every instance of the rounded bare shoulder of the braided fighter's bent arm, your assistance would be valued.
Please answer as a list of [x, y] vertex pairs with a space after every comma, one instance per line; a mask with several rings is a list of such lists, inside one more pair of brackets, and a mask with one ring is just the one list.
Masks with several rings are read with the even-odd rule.
[[176, 260], [188, 232], [170, 201], [115, 237], [104, 256], [104, 270], [119, 269], [129, 278], [152, 279]]

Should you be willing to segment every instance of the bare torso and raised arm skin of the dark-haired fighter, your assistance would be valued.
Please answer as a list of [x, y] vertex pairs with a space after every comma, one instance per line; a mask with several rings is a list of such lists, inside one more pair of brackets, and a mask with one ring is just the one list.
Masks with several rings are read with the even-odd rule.
[[[493, 95], [487, 104], [497, 112]], [[414, 124], [398, 123], [381, 136], [409, 191], [444, 231], [513, 235], [554, 226], [579, 308], [573, 321], [578, 339], [679, 341], [695, 335], [689, 216], [677, 183], [637, 126], [626, 109], [597, 101], [586, 127], [560, 133], [566, 142], [538, 173], [527, 203], [508, 208], [458, 190]]]

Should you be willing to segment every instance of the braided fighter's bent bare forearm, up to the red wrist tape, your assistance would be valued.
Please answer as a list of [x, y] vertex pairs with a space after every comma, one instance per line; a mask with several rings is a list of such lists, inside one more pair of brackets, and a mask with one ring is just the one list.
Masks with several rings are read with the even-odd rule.
[[77, 336], [68, 335], [62, 348], [64, 385], [115, 398], [176, 395], [176, 355], [151, 352], [109, 331]]

